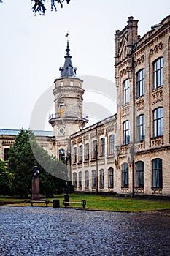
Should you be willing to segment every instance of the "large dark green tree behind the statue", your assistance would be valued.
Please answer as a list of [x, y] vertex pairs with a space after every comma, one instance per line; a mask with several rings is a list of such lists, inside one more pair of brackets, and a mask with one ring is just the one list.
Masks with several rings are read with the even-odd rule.
[[14, 145], [9, 149], [9, 172], [14, 176], [12, 192], [15, 197], [27, 198], [31, 195], [31, 181], [35, 165], [39, 168], [42, 195], [49, 197], [56, 193], [57, 187], [63, 189], [64, 181], [50, 174], [56, 172], [55, 167], [58, 167], [58, 161], [36, 143], [33, 132], [22, 129], [16, 136]]

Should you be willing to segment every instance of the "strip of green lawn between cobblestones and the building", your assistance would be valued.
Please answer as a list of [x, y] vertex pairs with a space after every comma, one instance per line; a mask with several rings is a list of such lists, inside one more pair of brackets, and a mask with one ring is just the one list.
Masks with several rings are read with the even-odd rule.
[[[49, 206], [53, 206], [53, 200], [59, 199], [60, 206], [63, 207], [63, 195], [56, 195], [54, 198], [49, 198]], [[15, 203], [15, 206], [30, 206], [30, 203], [23, 203], [24, 200], [13, 199], [10, 197], [0, 197], [1, 201], [6, 202], [18, 202]], [[81, 201], [86, 200], [86, 208], [90, 210], [99, 210], [99, 211], [157, 211], [157, 210], [170, 210], [170, 201], [167, 200], [142, 200], [142, 199], [127, 199], [127, 198], [118, 198], [112, 196], [101, 196], [101, 195], [77, 195], [70, 194], [70, 201]], [[20, 202], [20, 203], [19, 203]], [[44, 206], [41, 204], [35, 204], [35, 206]], [[71, 204], [72, 207], [81, 207], [80, 204]]]

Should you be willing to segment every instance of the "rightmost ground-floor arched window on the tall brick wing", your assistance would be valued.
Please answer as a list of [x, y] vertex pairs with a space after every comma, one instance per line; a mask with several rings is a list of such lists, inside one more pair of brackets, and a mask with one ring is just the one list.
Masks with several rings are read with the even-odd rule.
[[162, 159], [152, 160], [152, 187], [162, 189]]

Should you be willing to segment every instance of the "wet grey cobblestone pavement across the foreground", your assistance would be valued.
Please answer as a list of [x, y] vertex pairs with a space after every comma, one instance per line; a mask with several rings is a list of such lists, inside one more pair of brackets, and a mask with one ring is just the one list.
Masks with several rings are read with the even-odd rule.
[[1, 256], [170, 255], [170, 211], [0, 207]]

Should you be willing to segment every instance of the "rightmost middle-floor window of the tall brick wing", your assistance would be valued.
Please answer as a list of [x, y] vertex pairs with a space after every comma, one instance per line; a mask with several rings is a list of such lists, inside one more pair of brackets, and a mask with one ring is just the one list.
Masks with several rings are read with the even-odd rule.
[[163, 108], [153, 111], [153, 137], [163, 136]]

